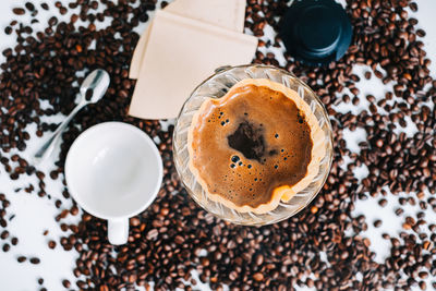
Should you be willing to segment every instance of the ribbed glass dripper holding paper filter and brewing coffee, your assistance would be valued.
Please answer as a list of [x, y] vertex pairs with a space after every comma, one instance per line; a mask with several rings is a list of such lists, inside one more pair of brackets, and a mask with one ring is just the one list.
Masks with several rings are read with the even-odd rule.
[[231, 68], [205, 81], [185, 102], [173, 142], [192, 197], [241, 225], [298, 213], [331, 163], [331, 126], [319, 99], [272, 66]]

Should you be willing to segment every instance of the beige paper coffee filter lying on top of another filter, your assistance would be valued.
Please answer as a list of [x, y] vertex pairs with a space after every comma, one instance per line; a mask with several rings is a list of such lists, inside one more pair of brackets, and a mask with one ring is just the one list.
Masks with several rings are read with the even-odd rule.
[[250, 63], [256, 47], [254, 36], [158, 11], [129, 114], [175, 118], [191, 92], [215, 69]]

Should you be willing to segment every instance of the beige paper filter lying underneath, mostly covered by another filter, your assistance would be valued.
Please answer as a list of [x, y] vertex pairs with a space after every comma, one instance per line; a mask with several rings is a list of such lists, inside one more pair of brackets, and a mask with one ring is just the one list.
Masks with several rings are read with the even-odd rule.
[[[243, 33], [245, 5], [245, 0], [175, 0], [164, 8], [164, 10], [180, 16], [203, 21], [222, 28]], [[152, 27], [153, 21], [150, 21], [148, 27], [142, 34], [135, 51], [133, 52], [129, 72], [130, 78], [137, 78], [140, 75], [141, 63], [147, 47]]]

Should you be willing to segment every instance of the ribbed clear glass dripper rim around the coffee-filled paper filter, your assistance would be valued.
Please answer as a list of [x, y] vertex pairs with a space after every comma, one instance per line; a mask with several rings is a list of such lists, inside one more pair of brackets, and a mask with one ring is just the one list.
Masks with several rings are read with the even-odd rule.
[[[197, 182], [189, 167], [187, 132], [194, 113], [207, 98], [221, 98], [239, 81], [244, 78], [268, 78], [281, 83], [295, 90], [314, 112], [325, 134], [326, 155], [319, 163], [318, 174], [307, 187], [296, 193], [289, 202], [280, 202], [279, 206], [266, 214], [239, 213], [219, 202], [207, 197], [207, 192]], [[263, 226], [287, 219], [305, 206], [318, 194], [330, 170], [332, 160], [332, 132], [327, 112], [315, 93], [293, 74], [268, 65], [240, 65], [218, 69], [217, 73], [204, 81], [194, 89], [184, 102], [177, 119], [173, 136], [173, 156], [175, 169], [187, 193], [207, 211], [238, 225]]]

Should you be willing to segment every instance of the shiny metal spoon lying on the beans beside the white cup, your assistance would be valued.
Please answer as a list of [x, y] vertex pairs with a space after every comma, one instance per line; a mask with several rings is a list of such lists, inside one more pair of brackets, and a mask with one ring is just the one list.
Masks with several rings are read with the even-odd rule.
[[[50, 138], [35, 154], [35, 161], [40, 162], [45, 158], [50, 156], [51, 151], [55, 148], [56, 142], [59, 140], [59, 136], [66, 128], [69, 122], [73, 119], [73, 117], [85, 106], [89, 104], [95, 104], [100, 100], [108, 89], [110, 77], [108, 72], [101, 69], [94, 70], [90, 74], [86, 76], [81, 86], [81, 101], [61, 123], [61, 125], [59, 125], [59, 128], [52, 133]], [[88, 89], [93, 92], [93, 95], [90, 96], [89, 100], [86, 100], [86, 92]]]

